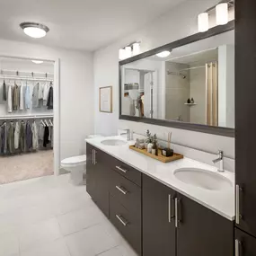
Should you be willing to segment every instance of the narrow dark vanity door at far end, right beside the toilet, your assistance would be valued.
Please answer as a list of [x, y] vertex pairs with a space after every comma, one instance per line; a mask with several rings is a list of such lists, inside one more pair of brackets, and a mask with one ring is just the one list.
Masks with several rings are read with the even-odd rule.
[[86, 191], [92, 197], [96, 196], [96, 170], [94, 165], [94, 147], [86, 144]]

